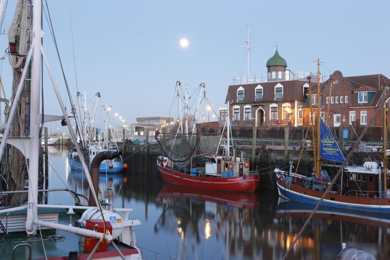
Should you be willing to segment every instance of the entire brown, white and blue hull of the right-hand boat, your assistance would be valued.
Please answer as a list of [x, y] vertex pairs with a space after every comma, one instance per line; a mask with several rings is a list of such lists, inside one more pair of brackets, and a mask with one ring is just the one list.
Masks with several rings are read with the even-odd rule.
[[[282, 178], [277, 181], [279, 196], [291, 201], [317, 205], [323, 196], [323, 192], [320, 191], [313, 191], [292, 183], [286, 186], [284, 184]], [[321, 206], [390, 214], [389, 203], [390, 198], [362, 198], [328, 193]]]

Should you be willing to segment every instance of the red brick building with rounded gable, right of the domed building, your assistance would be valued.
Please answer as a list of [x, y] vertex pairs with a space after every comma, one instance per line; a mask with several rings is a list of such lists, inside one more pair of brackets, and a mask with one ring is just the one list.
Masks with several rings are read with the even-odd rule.
[[[330, 84], [332, 93], [330, 94]], [[365, 126], [375, 110], [383, 94], [381, 86], [390, 86], [390, 79], [382, 74], [343, 77], [340, 71], [333, 72], [330, 78], [321, 84], [321, 107], [329, 126]], [[308, 97], [308, 93], [306, 93]], [[312, 84], [312, 100], [317, 107], [317, 84]], [[328, 109], [330, 104], [330, 109]], [[310, 123], [310, 99], [304, 108], [303, 124]], [[316, 114], [314, 114], [316, 116]], [[371, 126], [381, 126], [379, 113]]]

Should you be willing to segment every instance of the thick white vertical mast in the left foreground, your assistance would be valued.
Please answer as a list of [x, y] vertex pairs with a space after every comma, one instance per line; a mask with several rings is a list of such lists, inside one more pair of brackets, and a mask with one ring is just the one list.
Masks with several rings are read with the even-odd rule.
[[38, 203], [38, 162], [41, 138], [39, 138], [39, 100], [41, 94], [41, 0], [35, 0], [32, 7], [32, 63], [31, 63], [31, 92], [30, 92], [30, 160], [28, 163], [28, 207], [26, 232], [29, 235], [36, 233], [34, 224], [37, 216]]

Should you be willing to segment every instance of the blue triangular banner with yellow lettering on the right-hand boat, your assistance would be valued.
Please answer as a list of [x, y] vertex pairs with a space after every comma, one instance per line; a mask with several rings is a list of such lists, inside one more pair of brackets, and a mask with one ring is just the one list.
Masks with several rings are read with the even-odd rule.
[[335, 141], [335, 139], [333, 139], [324, 121], [322, 119], [320, 121], [321, 121], [321, 135], [320, 135], [321, 157], [335, 162], [344, 162], [345, 157], [340, 151], [337, 142]]

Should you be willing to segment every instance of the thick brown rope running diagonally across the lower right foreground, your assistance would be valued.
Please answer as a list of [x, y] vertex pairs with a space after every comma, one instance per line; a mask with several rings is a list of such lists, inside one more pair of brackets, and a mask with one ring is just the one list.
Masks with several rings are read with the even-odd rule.
[[343, 162], [343, 164], [340, 166], [339, 170], [337, 171], [336, 175], [333, 177], [333, 180], [330, 182], [330, 184], [328, 185], [328, 188], [326, 189], [326, 191], [324, 192], [324, 194], [322, 195], [321, 199], [318, 201], [316, 207], [314, 208], [314, 210], [312, 211], [312, 213], [309, 215], [309, 217], [307, 218], [305, 224], [303, 224], [300, 232], [298, 233], [298, 235], [295, 237], [293, 243], [291, 244], [290, 248], [287, 250], [286, 254], [283, 256], [282, 260], [286, 259], [287, 256], [289, 255], [289, 253], [291, 252], [291, 250], [293, 249], [296, 241], [298, 241], [298, 239], [300, 238], [300, 236], [302, 235], [303, 231], [305, 230], [305, 228], [307, 227], [307, 225], [309, 224], [310, 220], [312, 219], [314, 213], [317, 211], [318, 207], [321, 205], [322, 201], [324, 200], [325, 196], [328, 194], [328, 192], [333, 188], [333, 184], [335, 184], [337, 178], [340, 176], [341, 172], [342, 172], [342, 169], [344, 168], [344, 166], [346, 166], [347, 164], [347, 161], [352, 157], [353, 155], [353, 151], [357, 148], [357, 146], [359, 145], [360, 141], [362, 141], [364, 135], [367, 133], [368, 131], [368, 128], [369, 126], [372, 124], [372, 122], [375, 120], [376, 118], [376, 115], [379, 113], [379, 111], [381, 110], [381, 108], [383, 107], [383, 104], [385, 103], [385, 100], [387, 100], [388, 98], [390, 97], [390, 93], [386, 95], [386, 97], [383, 97], [381, 98], [381, 103], [378, 104], [378, 107], [376, 108], [375, 112], [374, 112], [374, 115], [371, 117], [370, 121], [367, 123], [367, 125], [365, 126], [362, 134], [360, 134], [358, 140], [355, 142], [355, 144], [353, 145], [353, 148], [351, 151], [349, 151], [345, 161]]

